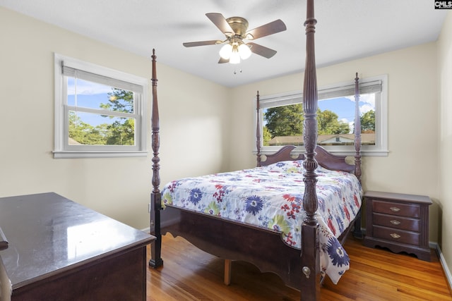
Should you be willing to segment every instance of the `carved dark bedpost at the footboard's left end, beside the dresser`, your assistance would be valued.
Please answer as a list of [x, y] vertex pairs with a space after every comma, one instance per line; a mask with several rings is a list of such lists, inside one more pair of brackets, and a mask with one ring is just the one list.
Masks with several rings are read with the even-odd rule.
[[[158, 151], [160, 148], [160, 125], [159, 125], [159, 115], [158, 115], [158, 102], [157, 102], [157, 70], [155, 68], [155, 49], [153, 49], [153, 77], [151, 79], [153, 85], [153, 104], [152, 104], [152, 131], [153, 135], [151, 138], [151, 143], [153, 147], [153, 191], [150, 193], [150, 233], [154, 235], [157, 239], [150, 246], [150, 260], [149, 266], [157, 268], [163, 265], [162, 260], [162, 233], [160, 231], [160, 210], [162, 209], [162, 195], [160, 194], [160, 158], [158, 156]], [[153, 231], [154, 228], [154, 231]]]

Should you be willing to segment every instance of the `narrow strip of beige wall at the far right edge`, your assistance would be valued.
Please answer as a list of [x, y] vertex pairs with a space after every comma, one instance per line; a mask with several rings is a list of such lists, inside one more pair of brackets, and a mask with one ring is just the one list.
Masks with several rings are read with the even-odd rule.
[[452, 271], [452, 12], [449, 12], [438, 42], [439, 86], [439, 241], [448, 270]]

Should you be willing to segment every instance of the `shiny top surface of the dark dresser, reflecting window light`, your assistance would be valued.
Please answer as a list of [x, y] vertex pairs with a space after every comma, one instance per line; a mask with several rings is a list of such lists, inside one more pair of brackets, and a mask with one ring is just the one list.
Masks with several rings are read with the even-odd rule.
[[0, 198], [0, 227], [13, 288], [155, 239], [54, 192]]

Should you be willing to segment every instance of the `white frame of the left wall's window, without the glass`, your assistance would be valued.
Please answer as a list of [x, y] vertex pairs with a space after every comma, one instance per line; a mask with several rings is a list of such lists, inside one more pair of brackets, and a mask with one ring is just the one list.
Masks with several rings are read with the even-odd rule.
[[[67, 73], [71, 70], [79, 70], [82, 73], [92, 75], [93, 82], [96, 78], [101, 81], [121, 81], [124, 85], [134, 87], [134, 118], [136, 119], [135, 145], [69, 145], [69, 111], [71, 106], [67, 103], [67, 80], [63, 74], [63, 68]], [[54, 133], [54, 158], [93, 158], [93, 157], [124, 157], [124, 156], [147, 156], [147, 91], [148, 80], [88, 63], [69, 56], [54, 54], [55, 75], [55, 133]], [[90, 111], [85, 109], [84, 111]], [[121, 115], [120, 112], [115, 112]]]

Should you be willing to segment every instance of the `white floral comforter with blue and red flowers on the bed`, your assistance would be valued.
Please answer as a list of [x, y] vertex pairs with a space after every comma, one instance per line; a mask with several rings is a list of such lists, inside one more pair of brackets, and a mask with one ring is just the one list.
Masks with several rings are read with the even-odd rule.
[[[302, 161], [283, 161], [174, 180], [162, 190], [162, 206], [168, 204], [280, 231], [287, 245], [300, 249], [303, 173]], [[321, 166], [316, 173], [321, 271], [338, 283], [349, 269], [350, 259], [337, 238], [358, 213], [362, 188], [350, 173], [329, 171]]]

